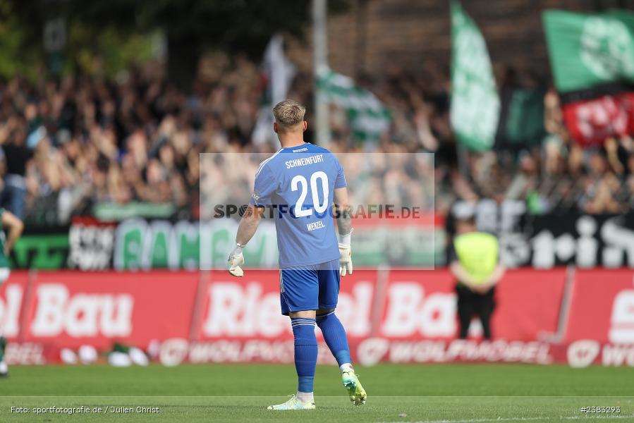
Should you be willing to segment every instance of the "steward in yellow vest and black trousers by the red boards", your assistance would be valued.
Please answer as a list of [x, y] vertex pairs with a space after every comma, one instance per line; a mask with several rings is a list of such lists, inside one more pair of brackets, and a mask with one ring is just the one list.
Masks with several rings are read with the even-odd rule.
[[456, 277], [460, 338], [467, 338], [474, 315], [482, 321], [485, 339], [491, 339], [495, 286], [504, 276], [499, 244], [494, 235], [478, 232], [473, 216], [456, 221], [456, 236], [449, 247], [449, 269]]

